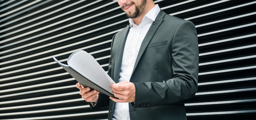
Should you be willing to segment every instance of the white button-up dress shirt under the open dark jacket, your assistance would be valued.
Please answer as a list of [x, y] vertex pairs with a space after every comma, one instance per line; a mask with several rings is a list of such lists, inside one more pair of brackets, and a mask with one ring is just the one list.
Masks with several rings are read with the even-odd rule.
[[[130, 31], [124, 46], [119, 82], [130, 81], [141, 43], [151, 24], [155, 21], [159, 11], [160, 8], [158, 4], [156, 4], [155, 7], [144, 16], [139, 26], [134, 24], [132, 19], [129, 20]], [[129, 103], [116, 103], [113, 120], [130, 120]]]

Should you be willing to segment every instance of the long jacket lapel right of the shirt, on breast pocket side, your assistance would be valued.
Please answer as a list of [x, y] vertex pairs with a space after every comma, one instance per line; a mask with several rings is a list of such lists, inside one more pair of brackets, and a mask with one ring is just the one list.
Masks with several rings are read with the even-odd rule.
[[163, 17], [164, 17], [165, 14], [166, 13], [164, 11], [160, 10], [160, 12], [158, 13], [158, 15], [156, 17], [155, 22], [153, 22], [152, 25], [150, 26], [150, 28], [148, 30], [148, 33], [146, 34], [145, 38], [142, 41], [141, 47], [139, 48], [139, 53], [138, 53], [137, 59], [135, 61], [135, 65], [134, 65], [132, 74], [133, 74], [134, 70], [136, 69], [136, 67], [139, 63], [139, 60], [140, 60], [141, 56], [143, 55], [144, 51], [146, 50], [149, 42], [151, 41], [151, 39], [155, 35], [155, 32], [157, 31], [157, 28], [163, 22], [163, 20], [164, 20]]

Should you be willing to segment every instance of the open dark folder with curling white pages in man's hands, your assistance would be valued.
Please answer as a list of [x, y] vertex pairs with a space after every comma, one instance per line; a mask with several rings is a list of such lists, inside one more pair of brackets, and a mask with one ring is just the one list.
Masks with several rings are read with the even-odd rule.
[[84, 50], [73, 52], [67, 59], [67, 65], [55, 57], [53, 59], [83, 87], [90, 87], [114, 97], [110, 85], [115, 82], [88, 52]]

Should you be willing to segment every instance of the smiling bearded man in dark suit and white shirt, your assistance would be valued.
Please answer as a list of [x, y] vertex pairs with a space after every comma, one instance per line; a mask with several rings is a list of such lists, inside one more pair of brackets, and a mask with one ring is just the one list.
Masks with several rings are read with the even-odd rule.
[[198, 38], [192, 22], [168, 15], [153, 0], [118, 0], [130, 24], [115, 34], [108, 73], [114, 97], [79, 83], [92, 108], [109, 120], [186, 120], [184, 100], [198, 84]]

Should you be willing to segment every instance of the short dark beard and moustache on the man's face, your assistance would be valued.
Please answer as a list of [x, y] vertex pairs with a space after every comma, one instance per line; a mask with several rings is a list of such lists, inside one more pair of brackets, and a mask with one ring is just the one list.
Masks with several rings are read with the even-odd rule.
[[139, 15], [141, 15], [144, 12], [145, 6], [146, 6], [147, 0], [143, 0], [140, 6], [137, 6], [135, 2], [131, 2], [130, 4], [125, 4], [121, 8], [123, 9], [124, 7], [130, 6], [131, 4], [135, 4], [135, 12], [134, 13], [126, 13], [127, 17], [129, 18], [137, 18]]

